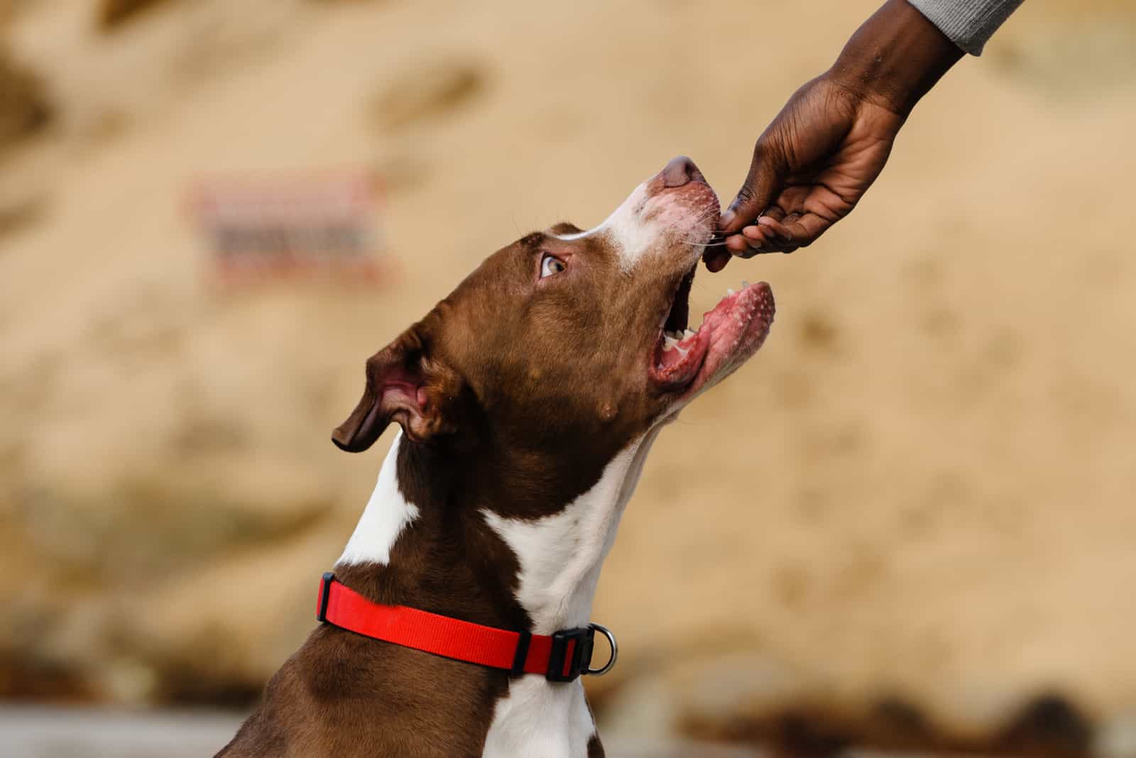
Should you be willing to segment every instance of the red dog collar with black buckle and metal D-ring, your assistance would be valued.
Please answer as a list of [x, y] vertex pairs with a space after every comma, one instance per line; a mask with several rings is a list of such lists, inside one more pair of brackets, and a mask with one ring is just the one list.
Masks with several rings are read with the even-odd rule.
[[[580, 674], [607, 674], [616, 665], [619, 651], [615, 635], [600, 624], [553, 634], [510, 632], [407, 606], [371, 603], [335, 581], [332, 572], [324, 574], [316, 607], [319, 622], [356, 634], [503, 668], [511, 676], [543, 674], [550, 682], [570, 682]], [[611, 659], [602, 668], [590, 667], [596, 631], [611, 645]]]

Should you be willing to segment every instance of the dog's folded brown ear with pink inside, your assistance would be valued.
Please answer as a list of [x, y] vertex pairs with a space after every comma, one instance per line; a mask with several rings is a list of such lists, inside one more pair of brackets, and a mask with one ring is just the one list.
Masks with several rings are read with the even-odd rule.
[[367, 386], [332, 441], [349, 453], [375, 444], [392, 421], [416, 443], [456, 429], [452, 405], [460, 391], [456, 372], [433, 360], [428, 339], [411, 327], [367, 360]]

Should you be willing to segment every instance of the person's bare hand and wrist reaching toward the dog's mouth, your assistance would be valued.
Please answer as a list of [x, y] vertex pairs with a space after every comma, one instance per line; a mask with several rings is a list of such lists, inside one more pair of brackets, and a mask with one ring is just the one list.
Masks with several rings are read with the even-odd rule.
[[907, 0], [887, 0], [825, 74], [797, 90], [758, 137], [745, 183], [721, 216], [732, 255], [791, 253], [847, 216], [884, 169], [916, 102], [962, 51]]

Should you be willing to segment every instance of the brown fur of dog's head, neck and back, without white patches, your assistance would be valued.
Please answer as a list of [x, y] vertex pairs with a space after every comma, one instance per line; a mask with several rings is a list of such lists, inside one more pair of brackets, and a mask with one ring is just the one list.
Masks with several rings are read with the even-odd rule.
[[[549, 253], [568, 269], [541, 279]], [[399, 483], [419, 517], [390, 565], [345, 566], [337, 579], [378, 603], [529, 629], [516, 557], [481, 511], [557, 513], [650, 427], [668, 398], [645, 368], [688, 267], [661, 261], [628, 287], [602, 237], [532, 234], [370, 359], [359, 407], [334, 438], [366, 449], [400, 423]], [[321, 626], [219, 755], [479, 756], [508, 689], [503, 671]], [[603, 755], [599, 738], [587, 749]]]

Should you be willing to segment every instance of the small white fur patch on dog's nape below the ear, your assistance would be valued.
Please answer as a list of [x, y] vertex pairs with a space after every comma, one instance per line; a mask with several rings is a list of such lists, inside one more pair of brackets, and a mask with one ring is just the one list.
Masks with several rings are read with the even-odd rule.
[[378, 472], [375, 491], [371, 492], [367, 507], [335, 565], [389, 564], [394, 541], [399, 539], [402, 530], [418, 517], [418, 506], [408, 503], [399, 491], [398, 463], [401, 441], [402, 431], [399, 430]]

